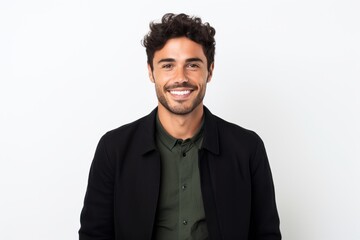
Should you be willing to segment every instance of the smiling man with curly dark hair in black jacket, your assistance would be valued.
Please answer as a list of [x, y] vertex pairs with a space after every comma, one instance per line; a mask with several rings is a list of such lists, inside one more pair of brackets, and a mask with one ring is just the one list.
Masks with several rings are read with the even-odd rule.
[[265, 148], [204, 107], [215, 29], [166, 14], [143, 44], [157, 108], [105, 134], [81, 213], [80, 240], [279, 240]]

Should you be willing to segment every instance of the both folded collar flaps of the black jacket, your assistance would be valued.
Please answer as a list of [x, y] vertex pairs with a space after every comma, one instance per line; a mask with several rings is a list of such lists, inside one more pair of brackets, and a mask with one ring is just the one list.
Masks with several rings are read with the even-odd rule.
[[[142, 154], [147, 154], [150, 151], [157, 149], [155, 143], [155, 126], [156, 126], [157, 107], [147, 116], [139, 125], [140, 138], [143, 139], [143, 144], [140, 147]], [[204, 106], [204, 140], [202, 148], [219, 154], [219, 133], [216, 116], [213, 115], [207, 107]]]

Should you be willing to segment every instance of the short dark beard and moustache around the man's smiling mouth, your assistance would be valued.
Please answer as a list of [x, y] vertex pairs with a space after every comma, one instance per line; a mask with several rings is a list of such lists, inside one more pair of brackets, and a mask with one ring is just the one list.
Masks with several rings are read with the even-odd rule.
[[194, 99], [191, 100], [191, 102], [189, 102], [190, 100], [178, 100], [176, 101], [176, 104], [171, 104], [169, 103], [169, 101], [166, 99], [165, 97], [165, 92], [168, 92], [171, 89], [174, 88], [180, 88], [180, 87], [184, 87], [184, 88], [191, 88], [193, 91], [191, 92], [191, 94], [194, 93], [194, 91], [198, 90], [198, 87], [188, 83], [188, 82], [183, 82], [181, 84], [172, 84], [169, 86], [164, 86], [163, 89], [161, 88], [161, 86], [155, 85], [156, 88], [156, 95], [158, 98], [159, 103], [166, 108], [169, 112], [176, 114], [176, 115], [187, 115], [189, 113], [191, 113], [192, 111], [194, 111], [195, 108], [197, 108], [203, 101], [204, 96], [205, 96], [205, 88], [200, 89], [200, 91], [198, 92], [198, 94], [196, 95], [196, 97]]

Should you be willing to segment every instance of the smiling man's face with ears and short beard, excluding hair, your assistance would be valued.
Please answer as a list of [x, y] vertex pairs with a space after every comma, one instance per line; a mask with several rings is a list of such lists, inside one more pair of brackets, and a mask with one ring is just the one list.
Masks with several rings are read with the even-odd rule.
[[202, 107], [206, 84], [212, 76], [213, 64], [207, 68], [202, 46], [186, 37], [173, 38], [156, 51], [150, 79], [155, 83], [159, 107], [178, 115]]

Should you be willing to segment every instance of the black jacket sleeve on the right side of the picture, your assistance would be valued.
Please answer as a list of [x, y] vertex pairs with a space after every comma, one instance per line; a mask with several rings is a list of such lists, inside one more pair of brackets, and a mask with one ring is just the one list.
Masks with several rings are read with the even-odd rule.
[[280, 240], [280, 220], [275, 203], [275, 190], [263, 141], [258, 138], [251, 161], [251, 240]]

